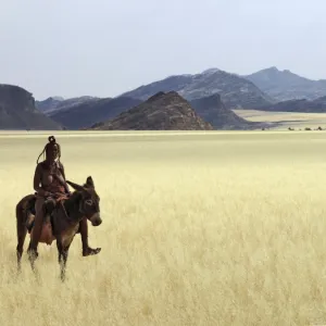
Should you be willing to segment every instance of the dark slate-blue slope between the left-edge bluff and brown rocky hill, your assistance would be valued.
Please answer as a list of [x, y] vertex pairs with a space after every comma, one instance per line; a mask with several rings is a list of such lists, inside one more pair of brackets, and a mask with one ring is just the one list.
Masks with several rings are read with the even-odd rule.
[[[64, 104], [66, 101], [62, 103]], [[74, 102], [72, 105], [65, 105], [60, 110], [57, 106], [55, 110], [48, 111], [47, 114], [67, 129], [80, 129], [90, 127], [97, 122], [112, 118], [139, 103], [141, 100], [127, 97], [90, 99], [78, 104]]]

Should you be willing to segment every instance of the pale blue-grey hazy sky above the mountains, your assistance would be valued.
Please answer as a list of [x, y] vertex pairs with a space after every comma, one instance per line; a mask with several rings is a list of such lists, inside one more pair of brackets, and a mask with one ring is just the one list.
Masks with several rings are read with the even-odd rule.
[[170, 75], [326, 78], [325, 0], [0, 0], [0, 84], [115, 97]]

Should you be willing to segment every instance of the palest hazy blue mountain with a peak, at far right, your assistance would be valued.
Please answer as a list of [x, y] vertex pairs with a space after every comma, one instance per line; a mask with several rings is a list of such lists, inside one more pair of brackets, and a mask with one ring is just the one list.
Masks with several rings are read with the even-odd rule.
[[278, 101], [308, 99], [326, 96], [326, 80], [311, 80], [290, 71], [279, 71], [273, 66], [243, 76], [255, 84], [262, 91]]

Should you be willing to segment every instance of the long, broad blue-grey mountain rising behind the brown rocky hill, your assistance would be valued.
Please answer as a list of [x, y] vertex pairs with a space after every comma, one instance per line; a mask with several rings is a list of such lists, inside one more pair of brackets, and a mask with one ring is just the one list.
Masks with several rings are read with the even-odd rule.
[[191, 101], [220, 93], [227, 108], [255, 109], [275, 102], [253, 83], [235, 74], [210, 68], [196, 75], [170, 76], [123, 93], [123, 97], [147, 100], [159, 91], [177, 91]]

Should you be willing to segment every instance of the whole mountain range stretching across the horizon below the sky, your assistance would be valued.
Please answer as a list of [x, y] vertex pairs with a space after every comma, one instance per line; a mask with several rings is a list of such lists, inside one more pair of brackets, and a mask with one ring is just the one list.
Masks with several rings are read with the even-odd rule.
[[[276, 67], [247, 76], [209, 68], [199, 74], [168, 76], [114, 98], [51, 97], [35, 101], [33, 95], [21, 87], [0, 85], [0, 128], [85, 129], [93, 126], [125, 128], [128, 125], [151, 128], [153, 124], [149, 120], [150, 108], [155, 111], [155, 116], [162, 117], [161, 125], [171, 128], [166, 123], [168, 114], [179, 116], [178, 123], [173, 123], [174, 126], [180, 126], [179, 122], [188, 114], [181, 111], [176, 114], [173, 103], [177, 96], [180, 97], [177, 108], [183, 108], [188, 113], [191, 108], [198, 118], [215, 129], [249, 129], [261, 126], [241, 118], [231, 109], [326, 112], [326, 80], [311, 80]], [[130, 116], [126, 118], [126, 114]], [[135, 116], [141, 121], [136, 123]], [[199, 121], [186, 121], [189, 128], [201, 124]], [[154, 125], [158, 126], [156, 118]]]

